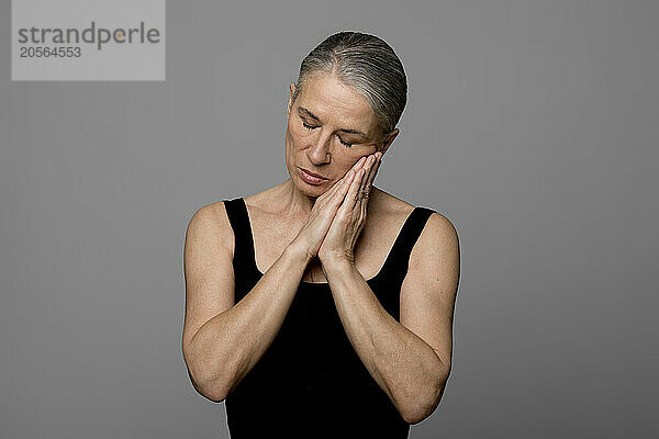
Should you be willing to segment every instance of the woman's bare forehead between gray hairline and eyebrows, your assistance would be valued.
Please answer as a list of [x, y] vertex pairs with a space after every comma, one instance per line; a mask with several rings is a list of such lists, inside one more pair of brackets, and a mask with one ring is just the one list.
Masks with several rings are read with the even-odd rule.
[[366, 98], [330, 74], [316, 74], [300, 93], [300, 105], [323, 122], [350, 124], [350, 128], [369, 130], [376, 115]]

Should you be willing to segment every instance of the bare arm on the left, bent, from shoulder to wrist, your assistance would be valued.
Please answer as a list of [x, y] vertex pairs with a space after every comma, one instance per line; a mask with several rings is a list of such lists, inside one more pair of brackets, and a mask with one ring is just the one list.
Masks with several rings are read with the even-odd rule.
[[206, 206], [186, 236], [183, 357], [194, 387], [214, 402], [226, 398], [271, 345], [309, 262], [305, 250], [289, 245], [234, 305], [232, 235], [223, 209]]

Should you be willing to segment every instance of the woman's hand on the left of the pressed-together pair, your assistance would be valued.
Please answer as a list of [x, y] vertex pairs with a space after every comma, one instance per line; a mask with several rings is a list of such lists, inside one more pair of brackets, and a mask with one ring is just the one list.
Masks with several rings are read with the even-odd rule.
[[368, 156], [361, 157], [346, 175], [332, 185], [325, 193], [316, 198], [306, 223], [302, 226], [291, 245], [300, 246], [306, 252], [306, 259], [312, 260], [319, 252], [323, 239], [334, 221], [334, 215], [340, 206], [350, 188], [353, 178], [364, 166]]

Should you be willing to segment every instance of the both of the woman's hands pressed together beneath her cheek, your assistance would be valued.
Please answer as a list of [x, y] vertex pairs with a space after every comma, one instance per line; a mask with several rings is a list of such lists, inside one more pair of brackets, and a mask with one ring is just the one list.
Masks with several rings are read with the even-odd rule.
[[361, 157], [315, 200], [297, 237], [303, 240], [310, 260], [317, 256], [323, 267], [355, 262], [355, 244], [366, 225], [368, 193], [381, 158], [382, 153]]

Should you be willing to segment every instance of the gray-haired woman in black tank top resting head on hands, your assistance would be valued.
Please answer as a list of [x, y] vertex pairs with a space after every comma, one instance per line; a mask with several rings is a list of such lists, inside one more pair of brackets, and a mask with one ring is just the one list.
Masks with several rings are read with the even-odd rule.
[[290, 178], [191, 218], [183, 354], [232, 438], [406, 438], [437, 407], [457, 234], [372, 185], [405, 103], [387, 43], [327, 37], [290, 86]]

